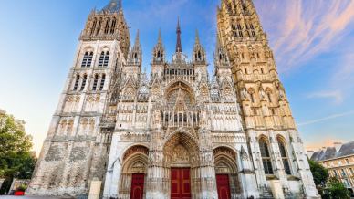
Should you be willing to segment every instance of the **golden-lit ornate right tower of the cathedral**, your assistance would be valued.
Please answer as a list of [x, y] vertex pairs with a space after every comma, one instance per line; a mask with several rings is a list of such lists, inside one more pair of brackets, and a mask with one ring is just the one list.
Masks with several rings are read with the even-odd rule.
[[[261, 194], [318, 196], [303, 142], [252, 0], [223, 0], [218, 40], [227, 50]], [[222, 58], [222, 57], [220, 57]], [[280, 184], [280, 185], [279, 185]]]

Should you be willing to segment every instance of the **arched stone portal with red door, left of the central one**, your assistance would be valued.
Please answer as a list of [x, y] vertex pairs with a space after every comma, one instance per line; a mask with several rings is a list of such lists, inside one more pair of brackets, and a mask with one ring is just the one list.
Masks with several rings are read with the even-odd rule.
[[121, 198], [143, 198], [148, 155], [149, 149], [140, 145], [130, 147], [123, 154], [119, 189]]

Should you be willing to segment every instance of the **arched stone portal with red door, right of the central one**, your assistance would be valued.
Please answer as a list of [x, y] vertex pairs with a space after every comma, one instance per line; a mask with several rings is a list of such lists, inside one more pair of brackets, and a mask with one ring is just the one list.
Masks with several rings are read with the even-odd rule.
[[216, 186], [219, 199], [238, 198], [241, 195], [236, 152], [227, 147], [213, 150], [215, 159]]

